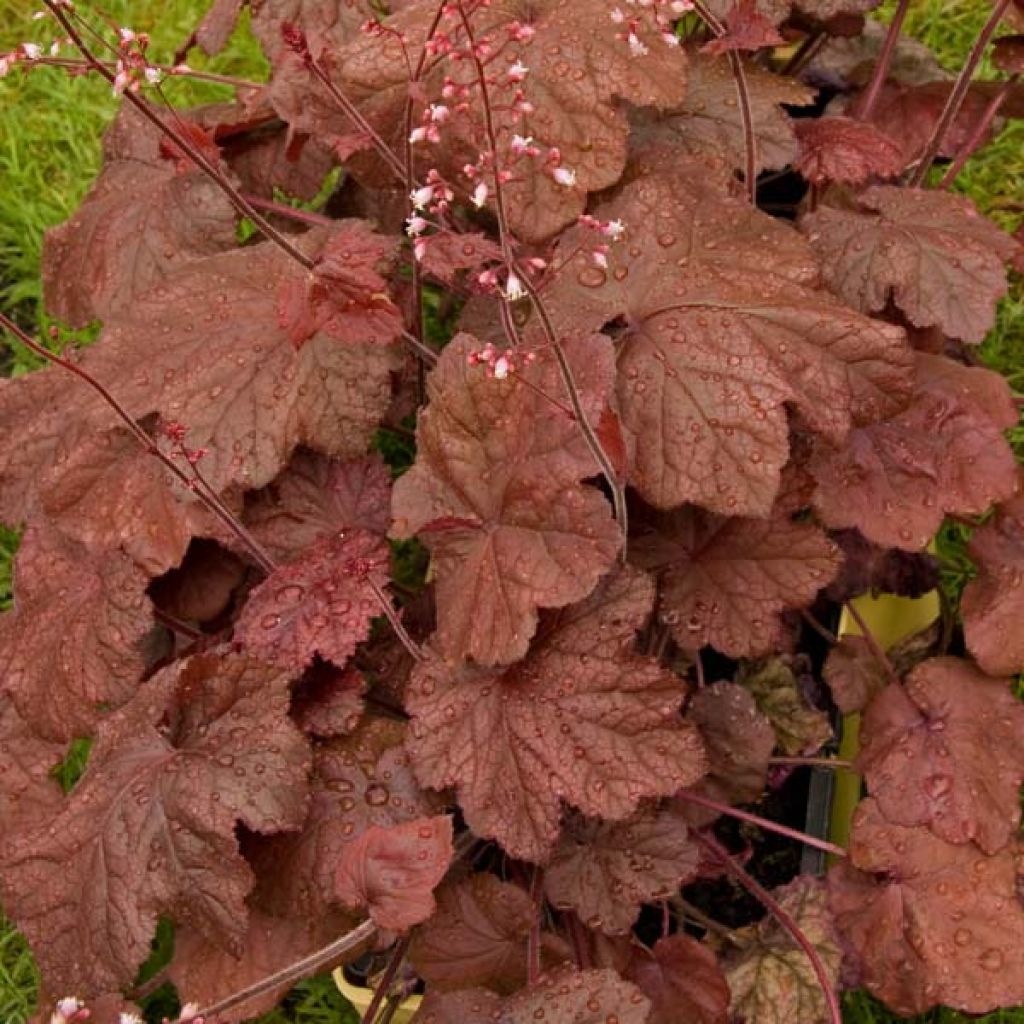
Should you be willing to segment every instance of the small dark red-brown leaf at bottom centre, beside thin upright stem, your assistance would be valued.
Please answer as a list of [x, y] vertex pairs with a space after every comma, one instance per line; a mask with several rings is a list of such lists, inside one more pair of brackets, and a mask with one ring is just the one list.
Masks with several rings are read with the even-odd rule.
[[[494, 874], [470, 874], [445, 883], [435, 896], [437, 910], [417, 930], [409, 951], [429, 988], [481, 987], [503, 995], [521, 988], [526, 983], [526, 941], [537, 919], [527, 893]], [[542, 935], [542, 952], [551, 938]]]

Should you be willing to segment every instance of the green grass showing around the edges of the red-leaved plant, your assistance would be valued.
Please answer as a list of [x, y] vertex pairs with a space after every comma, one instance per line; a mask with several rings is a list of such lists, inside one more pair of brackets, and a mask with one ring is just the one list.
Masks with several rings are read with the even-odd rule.
[[[118, 25], [148, 32], [156, 60], [169, 60], [191, 31], [203, 0], [106, 0], [103, 9]], [[887, 8], [891, 10], [891, 2]], [[92, 9], [96, 9], [93, 7]], [[885, 10], [886, 8], [884, 8]], [[955, 70], [990, 10], [987, 0], [920, 0], [912, 5], [907, 30]], [[49, 42], [47, 23], [33, 22], [28, 0], [0, 0], [0, 52], [27, 40]], [[196, 68], [249, 79], [265, 76], [256, 43], [243, 31], [210, 61], [189, 55]], [[983, 69], [987, 74], [988, 69]], [[224, 98], [222, 88], [185, 79], [168, 83], [169, 98], [181, 105]], [[0, 307], [26, 326], [48, 326], [39, 284], [39, 260], [46, 228], [65, 220], [80, 202], [99, 167], [99, 136], [117, 110], [109, 87], [90, 78], [68, 78], [55, 71], [8, 76], [0, 86]], [[978, 206], [1006, 226], [1016, 226], [1024, 209], [1024, 122], [1012, 122], [996, 140], [966, 167], [956, 183]], [[982, 357], [1024, 392], [1024, 289], [1014, 284], [1004, 300], [996, 329], [982, 347]], [[8, 370], [33, 364], [19, 353], [7, 358]], [[1012, 432], [1024, 455], [1024, 428]], [[940, 540], [944, 580], [958, 594], [971, 573], [963, 527]], [[9, 567], [17, 535], [0, 528], [0, 608], [10, 599]], [[32, 957], [10, 926], [0, 920], [0, 1021], [23, 1024], [32, 1012], [37, 975]], [[152, 1012], [173, 1010], [166, 1000]], [[848, 1024], [893, 1024], [899, 1020], [864, 993], [844, 1001]], [[293, 991], [283, 1009], [265, 1024], [340, 1024], [354, 1020], [350, 1008], [328, 979], [313, 979]], [[918, 1024], [1024, 1024], [1024, 1009], [968, 1018], [936, 1010]]]

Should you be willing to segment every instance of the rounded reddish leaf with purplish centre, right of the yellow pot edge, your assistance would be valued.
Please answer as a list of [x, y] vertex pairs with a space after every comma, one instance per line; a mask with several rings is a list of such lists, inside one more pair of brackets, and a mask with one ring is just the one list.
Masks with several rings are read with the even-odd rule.
[[969, 662], [933, 658], [871, 701], [857, 759], [879, 810], [986, 853], [1017, 830], [1024, 781], [1024, 705], [1009, 681]]

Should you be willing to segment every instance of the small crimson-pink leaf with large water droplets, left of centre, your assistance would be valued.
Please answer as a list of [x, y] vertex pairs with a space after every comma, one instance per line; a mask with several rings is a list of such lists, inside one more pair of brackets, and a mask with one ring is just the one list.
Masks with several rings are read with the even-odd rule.
[[325, 537], [252, 591], [234, 640], [282, 668], [303, 669], [315, 653], [342, 668], [381, 614], [373, 584], [387, 582], [383, 538], [361, 529]]

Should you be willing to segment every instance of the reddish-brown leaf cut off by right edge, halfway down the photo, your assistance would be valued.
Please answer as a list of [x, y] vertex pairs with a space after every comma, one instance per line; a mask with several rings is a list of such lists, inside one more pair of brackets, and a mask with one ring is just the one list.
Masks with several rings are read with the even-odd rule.
[[968, 650], [993, 676], [1024, 670], [1024, 498], [1000, 505], [968, 547], [978, 574], [964, 590], [961, 610]]

